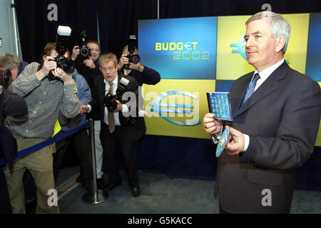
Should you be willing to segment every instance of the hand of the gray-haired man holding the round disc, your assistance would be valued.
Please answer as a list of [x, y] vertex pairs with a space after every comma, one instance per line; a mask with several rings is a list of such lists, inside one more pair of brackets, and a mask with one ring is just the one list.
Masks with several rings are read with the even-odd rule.
[[[230, 142], [231, 135], [233, 136], [233, 140]], [[230, 135], [228, 136], [228, 143], [225, 145], [225, 151], [229, 155], [238, 155], [243, 151], [245, 145], [245, 138], [243, 133], [234, 128], [230, 128]]]

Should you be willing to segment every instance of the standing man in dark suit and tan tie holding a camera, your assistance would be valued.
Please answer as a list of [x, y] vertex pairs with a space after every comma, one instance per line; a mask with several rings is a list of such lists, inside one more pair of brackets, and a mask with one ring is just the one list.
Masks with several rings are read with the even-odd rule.
[[[138, 98], [140, 95], [136, 79], [118, 72], [116, 55], [113, 53], [104, 54], [98, 62], [103, 77], [96, 78], [93, 83], [93, 101], [90, 105], [92, 109], [98, 109], [97, 113], [101, 120], [100, 138], [109, 177], [106, 190], [110, 191], [113, 187], [121, 185], [118, 157], [116, 156], [117, 148], [120, 147], [123, 165], [128, 175], [128, 183], [131, 185], [133, 196], [138, 197], [141, 190], [138, 183], [136, 142], [146, 131], [143, 117], [138, 117], [138, 106], [143, 105], [143, 98]], [[124, 100], [116, 100], [116, 109], [108, 110], [104, 105], [106, 94], [114, 95], [123, 78], [128, 83], [123, 95]]]

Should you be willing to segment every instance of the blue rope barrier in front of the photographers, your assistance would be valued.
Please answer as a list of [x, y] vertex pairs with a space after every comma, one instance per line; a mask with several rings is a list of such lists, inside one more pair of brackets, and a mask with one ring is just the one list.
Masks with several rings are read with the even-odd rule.
[[[31, 154], [31, 152], [36, 152], [37, 150], [40, 150], [44, 147], [46, 147], [47, 145], [51, 145], [54, 142], [58, 142], [60, 140], [62, 140], [63, 138], [67, 138], [70, 135], [73, 135], [74, 133], [77, 133], [80, 130], [83, 130], [83, 128], [86, 128], [88, 125], [88, 123], [83, 123], [82, 125], [77, 126], [76, 128], [73, 128], [71, 130], [66, 131], [65, 133], [62, 134], [58, 134], [55, 135], [53, 138], [50, 138], [49, 140], [46, 140], [44, 142], [40, 142], [39, 144], [33, 145], [31, 147], [28, 147], [24, 150], [20, 150], [19, 152], [17, 152], [16, 157], [14, 158], [14, 160], [20, 158], [20, 157], [24, 157], [26, 155]], [[4, 165], [6, 164], [6, 160], [4, 158], [0, 159], [0, 165]]]

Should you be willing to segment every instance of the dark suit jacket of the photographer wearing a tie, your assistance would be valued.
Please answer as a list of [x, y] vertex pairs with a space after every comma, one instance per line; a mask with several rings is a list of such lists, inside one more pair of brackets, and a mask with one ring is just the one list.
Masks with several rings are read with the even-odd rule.
[[[134, 125], [128, 125], [127, 118], [124, 116], [125, 113], [119, 112], [119, 121], [121, 122], [122, 128], [126, 130], [126, 136], [128, 139], [133, 141], [139, 140], [146, 132], [146, 125], [145, 120], [143, 117], [138, 118], [138, 99], [141, 99], [143, 102], [143, 98], [139, 98], [141, 94], [138, 93], [138, 83], [135, 78], [131, 76], [124, 76], [123, 73], [118, 71], [118, 85], [121, 81], [121, 78], [124, 77], [129, 80], [128, 86], [126, 91], [131, 91], [135, 93], [136, 99], [135, 100], [120, 100], [121, 103], [128, 106], [128, 108], [135, 108], [136, 109], [136, 123]], [[96, 109], [99, 120], [103, 121], [104, 110], [105, 106], [103, 105], [103, 100], [105, 98], [106, 93], [106, 84], [103, 82], [103, 76], [99, 76], [93, 82], [93, 90], [91, 90], [91, 95], [93, 100], [91, 101], [92, 109]], [[126, 92], [125, 91], [125, 92]], [[142, 104], [143, 105], [143, 104]]]

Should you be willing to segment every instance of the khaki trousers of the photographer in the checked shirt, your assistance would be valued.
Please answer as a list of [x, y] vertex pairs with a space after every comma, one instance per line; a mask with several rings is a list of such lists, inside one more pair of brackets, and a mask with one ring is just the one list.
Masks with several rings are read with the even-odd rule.
[[[21, 138], [15, 136], [18, 144], [18, 151], [27, 147], [43, 142], [41, 138]], [[55, 188], [53, 173], [53, 152], [56, 152], [54, 145], [49, 145], [37, 150], [25, 157], [14, 161], [13, 172], [10, 172], [9, 166], [4, 167], [6, 182], [9, 190], [9, 197], [14, 214], [26, 213], [24, 204], [24, 186], [22, 177], [28, 169], [34, 177], [37, 188], [37, 208], [36, 213], [59, 213], [58, 206], [49, 206], [47, 195], [48, 190]]]

